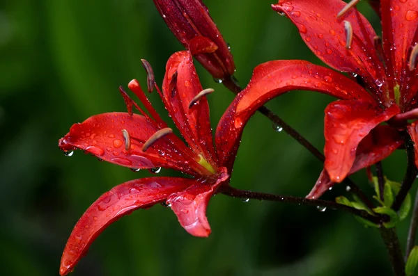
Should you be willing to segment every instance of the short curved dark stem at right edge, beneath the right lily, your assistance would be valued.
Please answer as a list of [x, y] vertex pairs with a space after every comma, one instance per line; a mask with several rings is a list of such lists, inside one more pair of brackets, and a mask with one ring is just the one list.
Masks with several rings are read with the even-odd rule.
[[405, 200], [406, 195], [417, 178], [417, 167], [415, 167], [415, 149], [414, 143], [412, 142], [409, 134], [406, 131], [401, 131], [401, 136], [406, 148], [406, 154], [408, 156], [408, 167], [406, 168], [405, 177], [402, 181], [401, 190], [399, 190], [398, 195], [396, 195], [394, 203], [392, 204], [392, 209], [394, 211], [399, 211], [403, 201]]

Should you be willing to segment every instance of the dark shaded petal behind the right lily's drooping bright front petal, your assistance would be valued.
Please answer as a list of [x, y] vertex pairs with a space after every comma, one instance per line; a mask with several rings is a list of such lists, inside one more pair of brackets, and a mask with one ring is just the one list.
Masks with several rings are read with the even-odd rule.
[[[377, 126], [359, 143], [355, 152], [353, 167], [348, 174], [353, 174], [362, 168], [367, 168], [378, 161], [382, 161], [402, 144], [403, 140], [396, 129], [386, 125]], [[334, 184], [326, 170], [323, 170], [307, 198], [320, 197]]]

